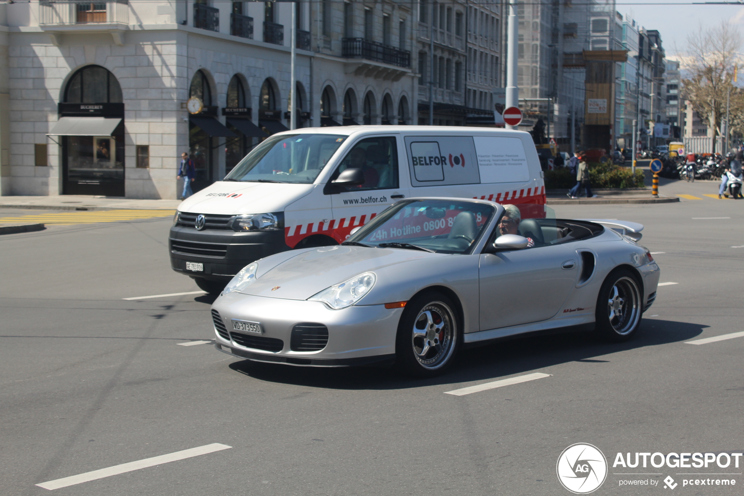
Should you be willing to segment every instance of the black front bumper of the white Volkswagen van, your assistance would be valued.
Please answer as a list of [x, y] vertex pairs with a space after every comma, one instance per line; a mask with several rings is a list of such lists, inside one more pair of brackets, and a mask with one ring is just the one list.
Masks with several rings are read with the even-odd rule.
[[[292, 249], [284, 241], [283, 230], [236, 233], [173, 226], [168, 238], [170, 267], [174, 271], [225, 282], [251, 262]], [[204, 270], [187, 270], [187, 262], [202, 263]]]

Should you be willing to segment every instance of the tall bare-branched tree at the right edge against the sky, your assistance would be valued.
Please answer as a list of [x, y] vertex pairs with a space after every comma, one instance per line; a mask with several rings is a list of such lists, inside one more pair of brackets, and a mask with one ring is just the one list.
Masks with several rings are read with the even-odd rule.
[[[687, 57], [684, 69], [690, 74], [682, 80], [684, 94], [693, 104], [693, 109], [708, 120], [713, 129], [713, 153], [716, 152], [716, 136], [719, 135], [721, 119], [726, 112], [726, 96], [734, 90], [734, 70], [740, 64], [739, 49], [742, 36], [738, 28], [721, 22], [717, 28], [699, 28], [687, 36]], [[734, 90], [734, 91], [732, 91]]]

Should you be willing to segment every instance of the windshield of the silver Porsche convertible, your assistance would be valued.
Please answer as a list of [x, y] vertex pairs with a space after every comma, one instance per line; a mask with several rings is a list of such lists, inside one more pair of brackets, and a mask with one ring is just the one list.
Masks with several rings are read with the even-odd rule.
[[353, 233], [346, 242], [463, 254], [475, 245], [495, 210], [489, 204], [457, 199], [400, 202]]

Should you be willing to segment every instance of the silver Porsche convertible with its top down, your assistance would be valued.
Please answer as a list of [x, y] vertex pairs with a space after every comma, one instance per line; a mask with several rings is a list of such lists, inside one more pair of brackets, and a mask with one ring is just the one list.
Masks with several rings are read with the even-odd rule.
[[656, 297], [642, 225], [522, 219], [476, 199], [397, 202], [341, 245], [274, 254], [212, 306], [216, 347], [238, 358], [441, 373], [458, 349], [550, 329], [630, 338]]

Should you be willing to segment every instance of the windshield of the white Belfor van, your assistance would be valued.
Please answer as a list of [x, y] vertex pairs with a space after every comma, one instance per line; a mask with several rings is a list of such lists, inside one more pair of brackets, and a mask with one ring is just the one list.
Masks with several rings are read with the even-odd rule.
[[224, 181], [312, 184], [339, 149], [344, 135], [278, 135], [246, 155]]

